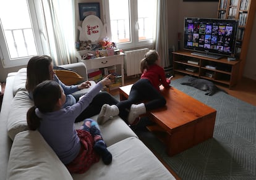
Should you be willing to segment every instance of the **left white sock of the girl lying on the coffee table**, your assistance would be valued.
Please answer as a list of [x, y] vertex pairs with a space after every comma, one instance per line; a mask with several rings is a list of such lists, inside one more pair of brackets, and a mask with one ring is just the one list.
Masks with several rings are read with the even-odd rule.
[[102, 125], [110, 118], [119, 115], [119, 109], [116, 105], [104, 104], [101, 107], [100, 113], [98, 115], [98, 124]]

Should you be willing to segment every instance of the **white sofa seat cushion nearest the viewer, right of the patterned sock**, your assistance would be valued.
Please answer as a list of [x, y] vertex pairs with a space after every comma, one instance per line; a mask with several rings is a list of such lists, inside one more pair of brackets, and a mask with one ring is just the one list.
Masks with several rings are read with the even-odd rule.
[[102, 160], [74, 179], [175, 179], [155, 155], [136, 137], [129, 137], [108, 147], [113, 155], [110, 165]]

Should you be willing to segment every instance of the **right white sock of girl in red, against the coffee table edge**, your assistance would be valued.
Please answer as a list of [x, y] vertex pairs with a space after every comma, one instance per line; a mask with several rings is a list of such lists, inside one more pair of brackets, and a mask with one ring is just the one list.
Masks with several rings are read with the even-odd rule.
[[130, 112], [128, 115], [128, 122], [130, 125], [132, 125], [132, 123], [134, 123], [134, 120], [139, 117], [139, 115], [142, 115], [146, 113], [146, 107], [144, 103], [140, 103], [140, 104], [132, 104], [130, 106]]

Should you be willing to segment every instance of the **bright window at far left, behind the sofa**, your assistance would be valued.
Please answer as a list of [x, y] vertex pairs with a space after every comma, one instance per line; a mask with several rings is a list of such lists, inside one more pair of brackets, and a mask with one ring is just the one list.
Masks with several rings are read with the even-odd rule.
[[0, 1], [0, 57], [4, 68], [25, 65], [33, 55], [43, 54], [36, 5], [31, 0]]

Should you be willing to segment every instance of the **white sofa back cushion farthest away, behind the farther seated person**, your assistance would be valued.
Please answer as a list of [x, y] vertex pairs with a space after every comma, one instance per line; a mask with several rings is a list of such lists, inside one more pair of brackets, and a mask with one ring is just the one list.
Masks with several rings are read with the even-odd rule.
[[25, 84], [27, 80], [27, 68], [21, 68], [14, 77], [13, 93], [14, 96], [18, 91], [25, 90]]

